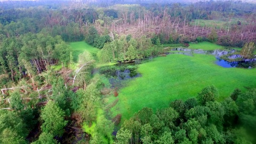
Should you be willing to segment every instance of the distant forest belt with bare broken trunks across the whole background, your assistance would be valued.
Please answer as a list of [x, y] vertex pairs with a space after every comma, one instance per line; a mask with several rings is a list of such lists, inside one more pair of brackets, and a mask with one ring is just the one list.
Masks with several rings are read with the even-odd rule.
[[[161, 43], [170, 38], [177, 43], [207, 39], [216, 31], [216, 43], [242, 47], [246, 42], [255, 42], [254, 4], [231, 1], [200, 2], [194, 4], [117, 4], [106, 7], [84, 3], [62, 3], [56, 9], [49, 6], [28, 9], [3, 9], [0, 12], [0, 34], [7, 37], [20, 36], [27, 32], [60, 35], [66, 42], [82, 41], [94, 26], [98, 34], [132, 35], [151, 38], [154, 33]], [[69, 4], [67, 6], [67, 4]], [[226, 21], [220, 28], [201, 26], [198, 20]], [[237, 20], [236, 23], [231, 20]], [[193, 21], [193, 22], [192, 22]], [[102, 46], [101, 46], [102, 47]]]

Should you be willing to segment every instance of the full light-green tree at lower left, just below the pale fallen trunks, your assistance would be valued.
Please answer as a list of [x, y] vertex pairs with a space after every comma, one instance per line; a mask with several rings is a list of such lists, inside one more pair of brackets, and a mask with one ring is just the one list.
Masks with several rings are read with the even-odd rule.
[[48, 101], [41, 113], [43, 120], [42, 131], [61, 137], [64, 132], [63, 127], [67, 124], [67, 121], [64, 120], [64, 114], [64, 111], [57, 103], [52, 100]]

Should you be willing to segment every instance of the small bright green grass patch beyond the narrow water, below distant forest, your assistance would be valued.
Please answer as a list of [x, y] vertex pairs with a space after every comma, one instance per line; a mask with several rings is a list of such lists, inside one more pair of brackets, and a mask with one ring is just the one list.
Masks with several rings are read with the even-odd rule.
[[223, 46], [217, 45], [210, 42], [201, 42], [201, 43], [189, 43], [189, 49], [201, 49], [201, 50], [216, 50], [216, 49], [224, 49]]

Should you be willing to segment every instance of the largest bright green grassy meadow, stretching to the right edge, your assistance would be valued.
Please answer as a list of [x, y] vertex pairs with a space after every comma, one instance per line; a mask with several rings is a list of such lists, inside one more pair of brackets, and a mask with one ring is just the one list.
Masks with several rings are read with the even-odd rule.
[[173, 100], [196, 97], [207, 85], [217, 87], [219, 101], [235, 88], [245, 91], [245, 87], [256, 86], [256, 69], [223, 68], [215, 65], [215, 60], [207, 54], [170, 54], [142, 63], [138, 68], [142, 76], [119, 91], [119, 102], [111, 109], [113, 116], [122, 114], [123, 121], [143, 107], [168, 107]]

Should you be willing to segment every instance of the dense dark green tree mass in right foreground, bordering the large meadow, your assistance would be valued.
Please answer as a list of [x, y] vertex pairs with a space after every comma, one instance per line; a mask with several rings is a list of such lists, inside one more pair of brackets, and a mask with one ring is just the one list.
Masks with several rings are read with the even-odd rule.
[[143, 108], [122, 124], [116, 143], [255, 143], [255, 92], [236, 89], [218, 102], [218, 90], [207, 86], [155, 113]]

